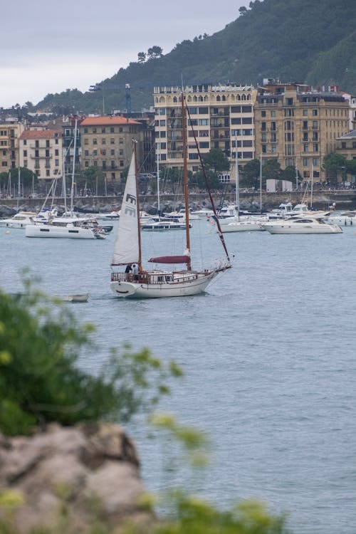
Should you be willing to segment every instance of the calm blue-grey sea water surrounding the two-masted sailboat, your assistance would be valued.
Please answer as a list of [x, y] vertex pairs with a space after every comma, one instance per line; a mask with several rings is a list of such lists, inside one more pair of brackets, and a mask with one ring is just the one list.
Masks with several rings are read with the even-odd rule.
[[[192, 232], [195, 266], [222, 257], [212, 226], [199, 221]], [[355, 232], [227, 234], [234, 268], [207, 293], [129, 301], [109, 289], [113, 234], [28, 239], [1, 229], [0, 286], [21, 292], [28, 266], [50, 294], [90, 293], [88, 303], [68, 303], [98, 329], [100, 350], [83, 367], [99, 367], [126, 341], [182, 367], [160, 409], [208, 434], [211, 464], [190, 473], [168, 439], [158, 444], [132, 423], [150, 491], [180, 483], [219, 506], [254, 497], [287, 512], [295, 534], [355, 534]], [[143, 256], [182, 253], [183, 239], [146, 233]]]

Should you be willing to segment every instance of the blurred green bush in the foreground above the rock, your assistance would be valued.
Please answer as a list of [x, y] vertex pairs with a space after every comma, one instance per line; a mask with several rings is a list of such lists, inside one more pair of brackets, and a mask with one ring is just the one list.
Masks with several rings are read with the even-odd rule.
[[95, 350], [93, 327], [80, 325], [68, 306], [28, 281], [23, 295], [0, 291], [0, 431], [28, 434], [36, 424], [110, 419], [127, 422], [149, 412], [179, 374], [149, 350], [112, 350], [97, 376], [78, 367], [80, 352]]

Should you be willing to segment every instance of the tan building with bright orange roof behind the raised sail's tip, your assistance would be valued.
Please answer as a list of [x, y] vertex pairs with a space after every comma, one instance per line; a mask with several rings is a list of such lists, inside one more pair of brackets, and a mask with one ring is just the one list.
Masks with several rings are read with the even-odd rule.
[[143, 126], [125, 117], [86, 117], [80, 122], [81, 168], [98, 167], [106, 180], [120, 180], [130, 164], [133, 140], [137, 141], [137, 159], [143, 157]]

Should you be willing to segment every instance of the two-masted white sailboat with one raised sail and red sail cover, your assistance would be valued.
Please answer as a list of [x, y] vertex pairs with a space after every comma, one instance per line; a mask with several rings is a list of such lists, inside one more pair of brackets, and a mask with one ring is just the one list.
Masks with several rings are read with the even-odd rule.
[[[182, 95], [183, 147], [184, 147], [184, 201], [186, 215], [189, 213], [188, 172], [187, 172], [187, 131], [184, 95]], [[211, 197], [211, 204], [214, 201]], [[215, 211], [216, 212], [216, 211]], [[188, 216], [187, 216], [188, 220]], [[219, 222], [218, 222], [219, 225]], [[194, 271], [191, 266], [189, 224], [186, 225], [186, 249], [182, 256], [161, 256], [148, 261], [156, 264], [177, 265], [185, 263], [179, 271], [163, 271], [155, 268], [145, 270], [142, 266], [140, 199], [137, 187], [136, 145], [132, 152], [130, 169], [127, 174], [125, 192], [122, 198], [119, 224], [111, 262], [110, 289], [116, 296], [124, 298], [182, 297], [203, 293], [209, 283], [219, 274], [231, 268], [229, 254], [222, 232], [221, 244], [226, 253], [225, 261], [216, 268]], [[123, 266], [134, 266], [133, 272], [123, 272]], [[128, 271], [129, 269], [126, 269]]]

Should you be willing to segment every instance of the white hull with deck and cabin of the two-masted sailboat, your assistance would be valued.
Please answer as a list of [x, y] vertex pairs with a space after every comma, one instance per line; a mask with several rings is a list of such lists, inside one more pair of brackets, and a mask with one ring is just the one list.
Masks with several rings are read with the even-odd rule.
[[[110, 289], [124, 298], [187, 297], [204, 293], [211, 280], [224, 269], [214, 271], [182, 271], [181, 273], [157, 272], [148, 276], [148, 281], [125, 281], [121, 273], [113, 273]], [[117, 278], [117, 280], [115, 280]], [[169, 281], [167, 281], [169, 279]]]

